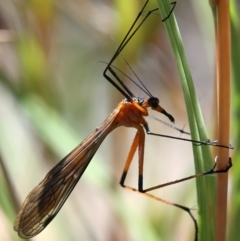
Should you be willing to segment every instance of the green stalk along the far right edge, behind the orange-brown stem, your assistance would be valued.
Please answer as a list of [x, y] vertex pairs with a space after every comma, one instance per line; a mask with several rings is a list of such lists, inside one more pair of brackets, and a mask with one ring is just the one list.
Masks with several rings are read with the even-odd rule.
[[240, 223], [240, 163], [235, 160], [240, 159], [240, 19], [238, 0], [230, 1], [230, 16], [231, 16], [231, 68], [232, 68], [232, 120], [231, 120], [231, 139], [234, 143], [234, 168], [231, 170], [232, 192], [231, 199], [228, 201], [229, 215], [228, 217], [228, 238], [229, 241], [235, 241], [239, 238], [239, 223]]

